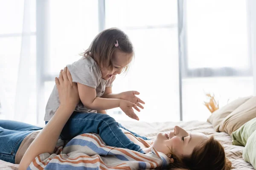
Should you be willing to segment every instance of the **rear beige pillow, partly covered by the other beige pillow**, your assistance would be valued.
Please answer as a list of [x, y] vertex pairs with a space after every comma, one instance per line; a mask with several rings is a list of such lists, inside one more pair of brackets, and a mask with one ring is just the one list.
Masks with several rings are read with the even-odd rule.
[[212, 124], [216, 132], [219, 132], [219, 127], [223, 119], [225, 119], [225, 117], [227, 117], [231, 112], [233, 112], [236, 108], [238, 108], [241, 104], [246, 102], [251, 97], [252, 96], [242, 97], [230, 102], [229, 104], [213, 112], [211, 116], [209, 116], [207, 121]]

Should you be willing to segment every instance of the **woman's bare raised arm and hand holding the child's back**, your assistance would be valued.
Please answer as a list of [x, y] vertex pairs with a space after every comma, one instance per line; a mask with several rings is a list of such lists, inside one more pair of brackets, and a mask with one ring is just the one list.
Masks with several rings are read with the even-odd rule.
[[64, 68], [63, 72], [61, 70], [59, 79], [55, 78], [55, 83], [61, 104], [52, 119], [26, 150], [20, 161], [20, 170], [26, 170], [36, 156], [42, 153], [53, 153], [61, 130], [79, 102], [77, 85], [72, 82], [72, 77], [67, 67]]

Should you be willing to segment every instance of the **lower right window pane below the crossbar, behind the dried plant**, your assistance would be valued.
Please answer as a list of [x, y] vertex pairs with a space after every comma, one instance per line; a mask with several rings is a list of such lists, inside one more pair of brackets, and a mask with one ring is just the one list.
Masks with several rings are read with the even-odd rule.
[[182, 81], [183, 120], [206, 121], [211, 115], [204, 105], [206, 93], [214, 94], [222, 107], [239, 97], [253, 94], [253, 77], [192, 78]]

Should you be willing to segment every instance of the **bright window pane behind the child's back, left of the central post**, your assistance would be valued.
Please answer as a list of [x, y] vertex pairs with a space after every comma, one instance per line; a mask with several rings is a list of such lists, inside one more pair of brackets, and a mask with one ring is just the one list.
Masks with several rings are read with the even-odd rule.
[[43, 100], [38, 109], [40, 123], [44, 120], [45, 106], [55, 85], [54, 78], [67, 64], [81, 58], [79, 54], [89, 47], [99, 32], [96, 0], [53, 0], [43, 5], [44, 11], [48, 12], [42, 15], [47, 29], [42, 30], [42, 38], [46, 40], [40, 48], [47, 54], [41, 58], [44, 66], [41, 71], [43, 93], [40, 93]]

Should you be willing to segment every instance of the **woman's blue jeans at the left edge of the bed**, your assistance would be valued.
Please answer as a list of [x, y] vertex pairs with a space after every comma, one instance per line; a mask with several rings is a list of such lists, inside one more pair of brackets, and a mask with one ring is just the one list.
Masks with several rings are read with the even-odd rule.
[[0, 159], [15, 164], [15, 156], [23, 139], [42, 127], [11, 120], [0, 120]]

